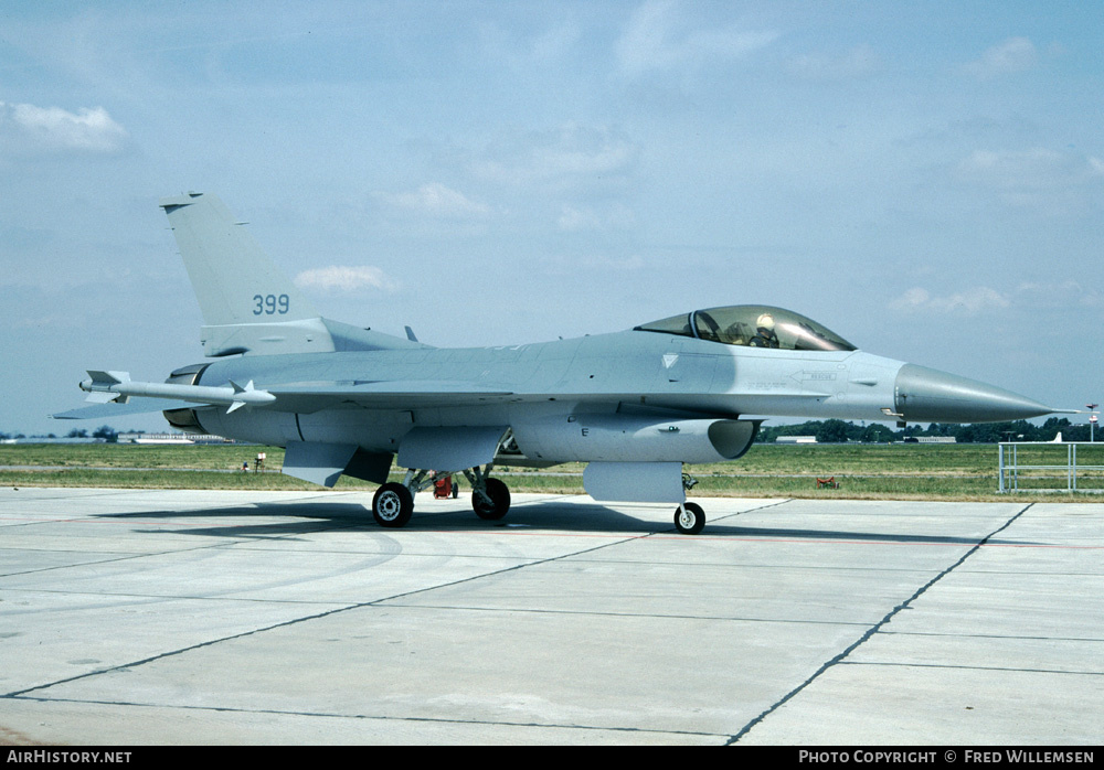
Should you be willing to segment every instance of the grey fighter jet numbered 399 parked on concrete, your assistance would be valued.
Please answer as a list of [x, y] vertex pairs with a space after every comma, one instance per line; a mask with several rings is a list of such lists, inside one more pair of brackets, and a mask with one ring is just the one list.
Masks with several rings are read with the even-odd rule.
[[[164, 383], [89, 371], [96, 406], [59, 418], [163, 410], [174, 428], [286, 449], [283, 472], [381, 484], [372, 515], [407, 524], [414, 494], [463, 473], [500, 520], [499, 464], [585, 462], [598, 501], [676, 503], [701, 532], [684, 466], [735, 460], [769, 417], [977, 423], [1053, 409], [985, 383], [856, 349], [796, 312], [737, 304], [634, 329], [505, 347], [442, 349], [322, 318], [214, 195], [160, 202], [199, 300], [211, 361]], [[393, 459], [407, 469], [389, 481]]]

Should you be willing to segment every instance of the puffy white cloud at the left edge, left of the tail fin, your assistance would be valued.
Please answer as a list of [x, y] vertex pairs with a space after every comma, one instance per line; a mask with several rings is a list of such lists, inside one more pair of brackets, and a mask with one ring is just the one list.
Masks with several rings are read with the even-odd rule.
[[129, 135], [103, 107], [70, 113], [61, 107], [0, 101], [0, 138], [45, 152], [119, 152]]

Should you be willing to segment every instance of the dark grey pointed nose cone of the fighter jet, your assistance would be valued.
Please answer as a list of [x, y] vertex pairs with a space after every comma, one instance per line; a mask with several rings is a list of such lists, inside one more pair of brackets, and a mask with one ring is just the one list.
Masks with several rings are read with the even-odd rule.
[[1053, 411], [1048, 406], [976, 379], [905, 364], [894, 404], [910, 423], [1002, 423]]

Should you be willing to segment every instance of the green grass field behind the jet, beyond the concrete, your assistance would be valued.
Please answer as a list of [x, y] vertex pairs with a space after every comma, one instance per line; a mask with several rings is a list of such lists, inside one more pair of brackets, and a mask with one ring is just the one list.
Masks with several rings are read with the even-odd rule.
[[[264, 473], [243, 473], [242, 462], [267, 452]], [[1061, 470], [1019, 473], [1020, 491], [997, 493], [994, 445], [756, 445], [735, 462], [688, 467], [698, 480], [691, 496], [849, 498], [946, 501], [1100, 501], [1104, 470], [1081, 471], [1070, 494], [1063, 446], [1025, 445], [1023, 464], [1063, 466]], [[0, 485], [112, 486], [128, 489], [321, 490], [282, 475], [284, 450], [277, 447], [157, 445], [0, 445]], [[1082, 445], [1079, 466], [1104, 467], [1104, 442]], [[516, 492], [582, 493], [582, 463], [548, 470], [498, 467], [495, 474]], [[817, 486], [817, 478], [835, 477], [839, 489]], [[401, 479], [401, 473], [393, 473]], [[464, 484], [467, 485], [466, 483]], [[342, 477], [335, 489], [375, 484]], [[1061, 493], [1042, 492], [1061, 489]], [[1039, 491], [1032, 491], [1039, 490]]]

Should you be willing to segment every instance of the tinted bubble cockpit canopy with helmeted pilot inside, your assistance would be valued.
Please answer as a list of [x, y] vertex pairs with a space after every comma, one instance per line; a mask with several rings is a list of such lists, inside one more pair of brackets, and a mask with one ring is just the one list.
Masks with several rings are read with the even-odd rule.
[[680, 334], [726, 345], [781, 350], [856, 350], [827, 327], [792, 310], [767, 304], [732, 304], [672, 316], [636, 327], [636, 331]]

